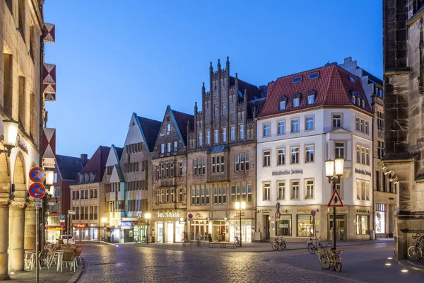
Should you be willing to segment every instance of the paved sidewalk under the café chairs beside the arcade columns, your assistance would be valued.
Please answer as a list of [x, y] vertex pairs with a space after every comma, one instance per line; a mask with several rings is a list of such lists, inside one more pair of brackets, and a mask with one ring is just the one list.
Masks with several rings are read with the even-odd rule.
[[[85, 264], [83, 260], [78, 263], [78, 267], [76, 267], [76, 272], [69, 271], [69, 267], [63, 267], [63, 272], [57, 272], [56, 267], [42, 267], [42, 270], [39, 272], [40, 282], [48, 282], [48, 283], [75, 283], [78, 281], [78, 278], [81, 277], [81, 274], [84, 270]], [[19, 283], [34, 283], [35, 282], [35, 269], [16, 272], [14, 274], [10, 274], [11, 282], [19, 282]]]

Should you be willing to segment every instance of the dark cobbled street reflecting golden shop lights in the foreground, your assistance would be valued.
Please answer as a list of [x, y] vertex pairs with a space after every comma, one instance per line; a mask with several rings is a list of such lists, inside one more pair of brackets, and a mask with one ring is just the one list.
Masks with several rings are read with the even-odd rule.
[[[263, 243], [269, 246], [269, 243]], [[177, 247], [177, 246], [175, 246]], [[180, 246], [181, 247], [181, 246]], [[393, 243], [343, 247], [343, 270], [319, 271], [317, 255], [306, 249], [264, 253], [159, 245], [86, 245], [81, 282], [423, 282], [424, 273], [394, 260]], [[213, 252], [212, 252], [213, 251]], [[391, 265], [385, 265], [391, 263]]]

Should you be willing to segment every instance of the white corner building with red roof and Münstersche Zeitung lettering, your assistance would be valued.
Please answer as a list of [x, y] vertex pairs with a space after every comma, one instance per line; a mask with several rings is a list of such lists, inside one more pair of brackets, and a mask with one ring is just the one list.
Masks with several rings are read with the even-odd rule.
[[[269, 83], [257, 118], [257, 231], [332, 238], [331, 185], [324, 161], [344, 158], [337, 184], [339, 241], [372, 229], [372, 110], [360, 79], [330, 64]], [[281, 216], [276, 219], [276, 203]], [[313, 224], [311, 212], [316, 216]]]

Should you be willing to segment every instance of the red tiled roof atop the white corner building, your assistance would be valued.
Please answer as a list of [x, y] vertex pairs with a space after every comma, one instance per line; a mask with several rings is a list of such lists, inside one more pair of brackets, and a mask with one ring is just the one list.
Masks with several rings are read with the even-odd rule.
[[[310, 74], [317, 71], [319, 72], [318, 78], [308, 79]], [[298, 76], [302, 76], [302, 81], [292, 83], [293, 78]], [[355, 82], [351, 81], [349, 76], [355, 79]], [[305, 94], [308, 91], [317, 92], [315, 103], [311, 105], [307, 105], [307, 96]], [[365, 109], [352, 103], [351, 91], [359, 93], [360, 98], [365, 99]], [[292, 98], [295, 93], [300, 93], [301, 99], [300, 106], [293, 108]], [[287, 98], [287, 105], [285, 110], [278, 110], [278, 101], [282, 96]], [[372, 112], [365, 98], [365, 91], [360, 83], [360, 79], [341, 67], [331, 65], [283, 76], [282, 78], [278, 78], [277, 81], [269, 83], [266, 102], [259, 114], [259, 118], [322, 106], [351, 106], [361, 111]]]

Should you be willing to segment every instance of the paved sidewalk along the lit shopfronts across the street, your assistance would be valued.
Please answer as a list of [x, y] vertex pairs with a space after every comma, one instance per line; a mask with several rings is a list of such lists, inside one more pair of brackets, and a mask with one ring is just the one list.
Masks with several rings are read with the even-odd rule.
[[[348, 242], [338, 242], [336, 247], [343, 246], [355, 246], [355, 245], [367, 245], [375, 243], [392, 243], [393, 239], [377, 239], [369, 241], [348, 241]], [[307, 248], [307, 241], [305, 242], [286, 242], [287, 250], [302, 250]], [[322, 241], [322, 244], [325, 246], [327, 243], [331, 245], [331, 241]], [[136, 245], [143, 246], [146, 248], [160, 248], [165, 250], [192, 250], [192, 251], [204, 251], [208, 249], [208, 252], [245, 252], [245, 253], [264, 253], [272, 252], [270, 242], [265, 243], [242, 243], [241, 248], [232, 249], [232, 248], [209, 248], [208, 242], [192, 242], [192, 243], [149, 243], [148, 245], [136, 244], [136, 243], [119, 243], [117, 246], [122, 245]]]

